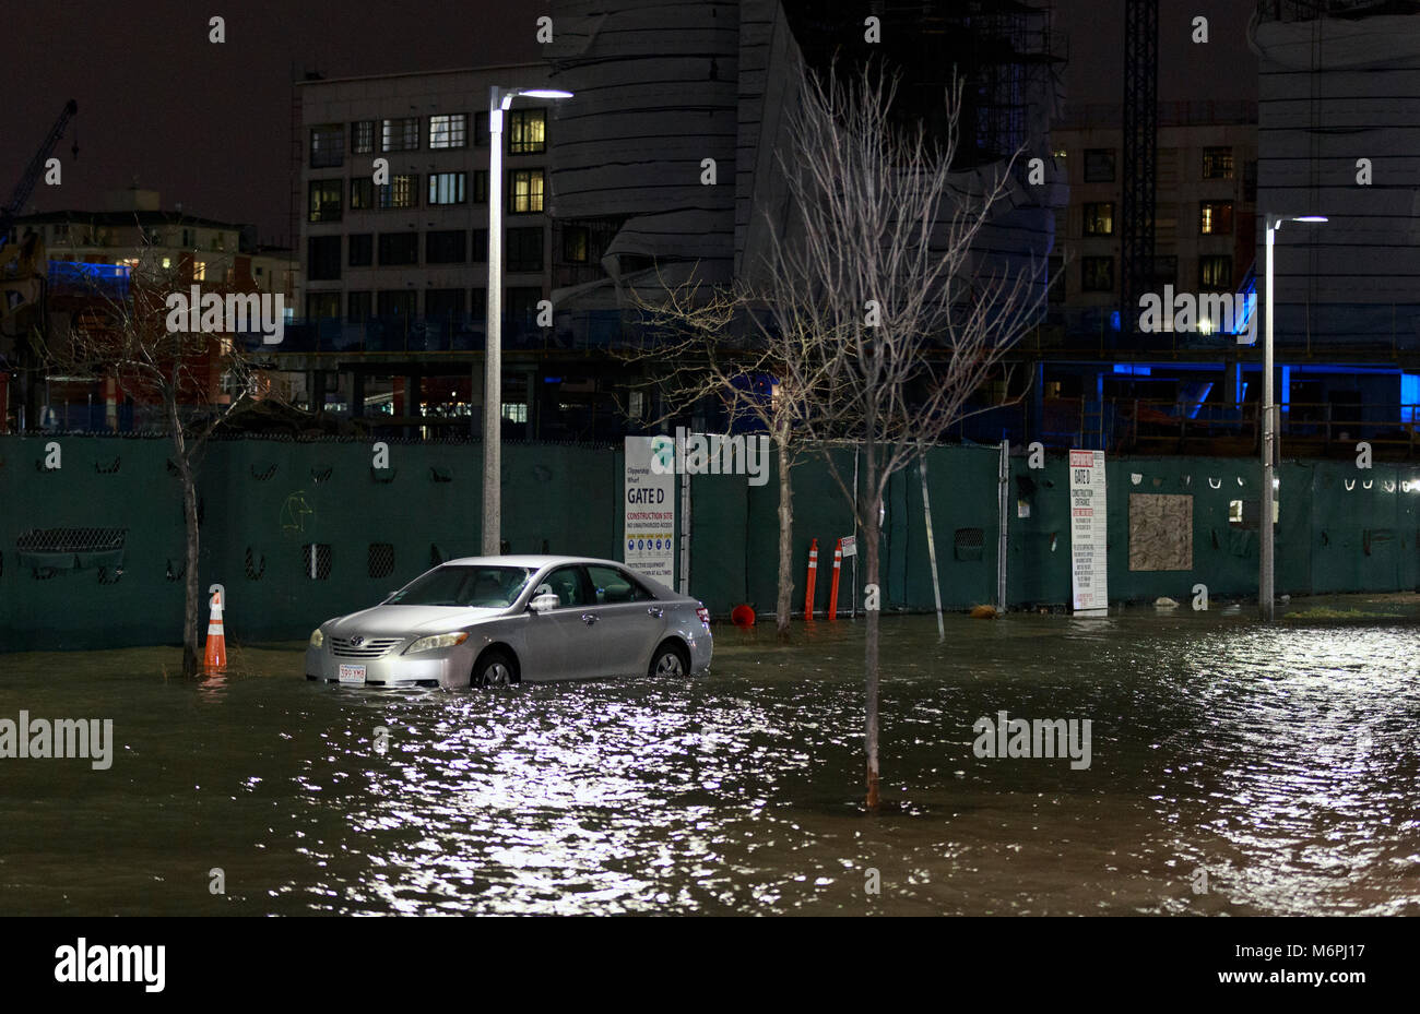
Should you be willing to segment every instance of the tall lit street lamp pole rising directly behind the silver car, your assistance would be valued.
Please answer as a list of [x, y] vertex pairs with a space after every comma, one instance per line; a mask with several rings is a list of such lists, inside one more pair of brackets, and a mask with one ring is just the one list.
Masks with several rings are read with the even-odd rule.
[[488, 89], [488, 319], [483, 355], [483, 555], [503, 537], [503, 112], [518, 95], [567, 99], [554, 88]]

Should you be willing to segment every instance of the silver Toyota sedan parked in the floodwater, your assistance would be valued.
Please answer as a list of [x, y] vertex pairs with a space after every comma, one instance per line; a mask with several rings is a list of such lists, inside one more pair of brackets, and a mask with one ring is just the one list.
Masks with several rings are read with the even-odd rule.
[[704, 672], [710, 651], [706, 607], [625, 564], [473, 556], [322, 623], [305, 650], [305, 675], [373, 686], [674, 678]]

